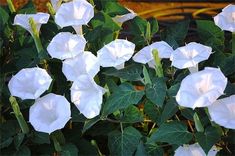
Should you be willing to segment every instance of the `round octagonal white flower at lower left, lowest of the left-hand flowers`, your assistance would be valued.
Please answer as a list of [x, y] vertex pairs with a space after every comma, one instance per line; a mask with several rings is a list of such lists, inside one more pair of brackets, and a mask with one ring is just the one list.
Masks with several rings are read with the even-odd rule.
[[29, 109], [29, 122], [39, 132], [50, 134], [63, 128], [70, 118], [70, 103], [53, 93], [37, 99]]

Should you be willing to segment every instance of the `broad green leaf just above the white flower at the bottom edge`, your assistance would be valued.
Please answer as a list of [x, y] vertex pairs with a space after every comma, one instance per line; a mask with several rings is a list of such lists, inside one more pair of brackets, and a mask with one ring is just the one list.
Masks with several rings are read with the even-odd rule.
[[172, 121], [162, 124], [157, 131], [153, 132], [149, 142], [167, 142], [182, 145], [188, 143], [192, 137], [193, 135], [187, 130], [184, 123]]

